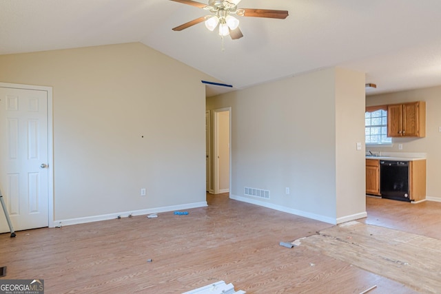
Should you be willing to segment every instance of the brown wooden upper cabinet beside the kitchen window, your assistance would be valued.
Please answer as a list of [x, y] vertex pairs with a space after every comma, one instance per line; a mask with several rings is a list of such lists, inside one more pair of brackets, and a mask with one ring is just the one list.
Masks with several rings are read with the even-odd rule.
[[388, 137], [425, 137], [426, 103], [411, 103], [387, 106]]

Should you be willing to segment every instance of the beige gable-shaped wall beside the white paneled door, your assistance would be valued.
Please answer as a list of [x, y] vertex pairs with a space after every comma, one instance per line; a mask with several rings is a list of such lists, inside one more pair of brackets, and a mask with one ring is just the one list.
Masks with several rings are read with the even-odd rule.
[[201, 79], [141, 43], [0, 56], [1, 82], [53, 87], [55, 220], [205, 202]]

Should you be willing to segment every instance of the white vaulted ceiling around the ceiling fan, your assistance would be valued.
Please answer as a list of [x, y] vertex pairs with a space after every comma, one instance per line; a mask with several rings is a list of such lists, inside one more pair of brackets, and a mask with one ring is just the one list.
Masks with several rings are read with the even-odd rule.
[[440, 0], [242, 0], [238, 7], [289, 17], [238, 17], [244, 37], [225, 38], [223, 51], [203, 23], [172, 31], [208, 13], [174, 1], [0, 0], [0, 54], [139, 41], [232, 90], [329, 66], [366, 72], [378, 86], [367, 94], [441, 85]]

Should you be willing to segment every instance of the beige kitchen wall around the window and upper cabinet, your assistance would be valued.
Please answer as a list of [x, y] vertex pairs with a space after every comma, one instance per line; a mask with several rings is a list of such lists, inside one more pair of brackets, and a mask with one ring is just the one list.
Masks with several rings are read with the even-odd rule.
[[[426, 101], [426, 137], [392, 138], [391, 147], [367, 147], [371, 151], [427, 153], [427, 199], [441, 201], [441, 87], [366, 97], [366, 105]], [[402, 150], [398, 150], [398, 144]]]

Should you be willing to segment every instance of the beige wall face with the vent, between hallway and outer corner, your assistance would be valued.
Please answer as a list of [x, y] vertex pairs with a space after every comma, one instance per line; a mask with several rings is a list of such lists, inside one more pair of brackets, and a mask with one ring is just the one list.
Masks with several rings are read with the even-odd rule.
[[336, 222], [335, 92], [329, 68], [207, 98], [232, 107], [232, 198]]

